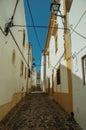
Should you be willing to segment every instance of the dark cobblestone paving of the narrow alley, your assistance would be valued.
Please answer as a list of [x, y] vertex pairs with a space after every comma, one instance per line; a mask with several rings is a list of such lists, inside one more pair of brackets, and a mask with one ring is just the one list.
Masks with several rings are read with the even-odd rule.
[[32, 93], [0, 122], [0, 130], [81, 130], [47, 94]]

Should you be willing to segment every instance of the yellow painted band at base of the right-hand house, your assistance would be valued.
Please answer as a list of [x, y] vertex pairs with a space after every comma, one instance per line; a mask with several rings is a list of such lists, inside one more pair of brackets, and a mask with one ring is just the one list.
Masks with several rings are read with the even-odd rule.
[[70, 94], [54, 92], [54, 99], [66, 112], [72, 112]]

